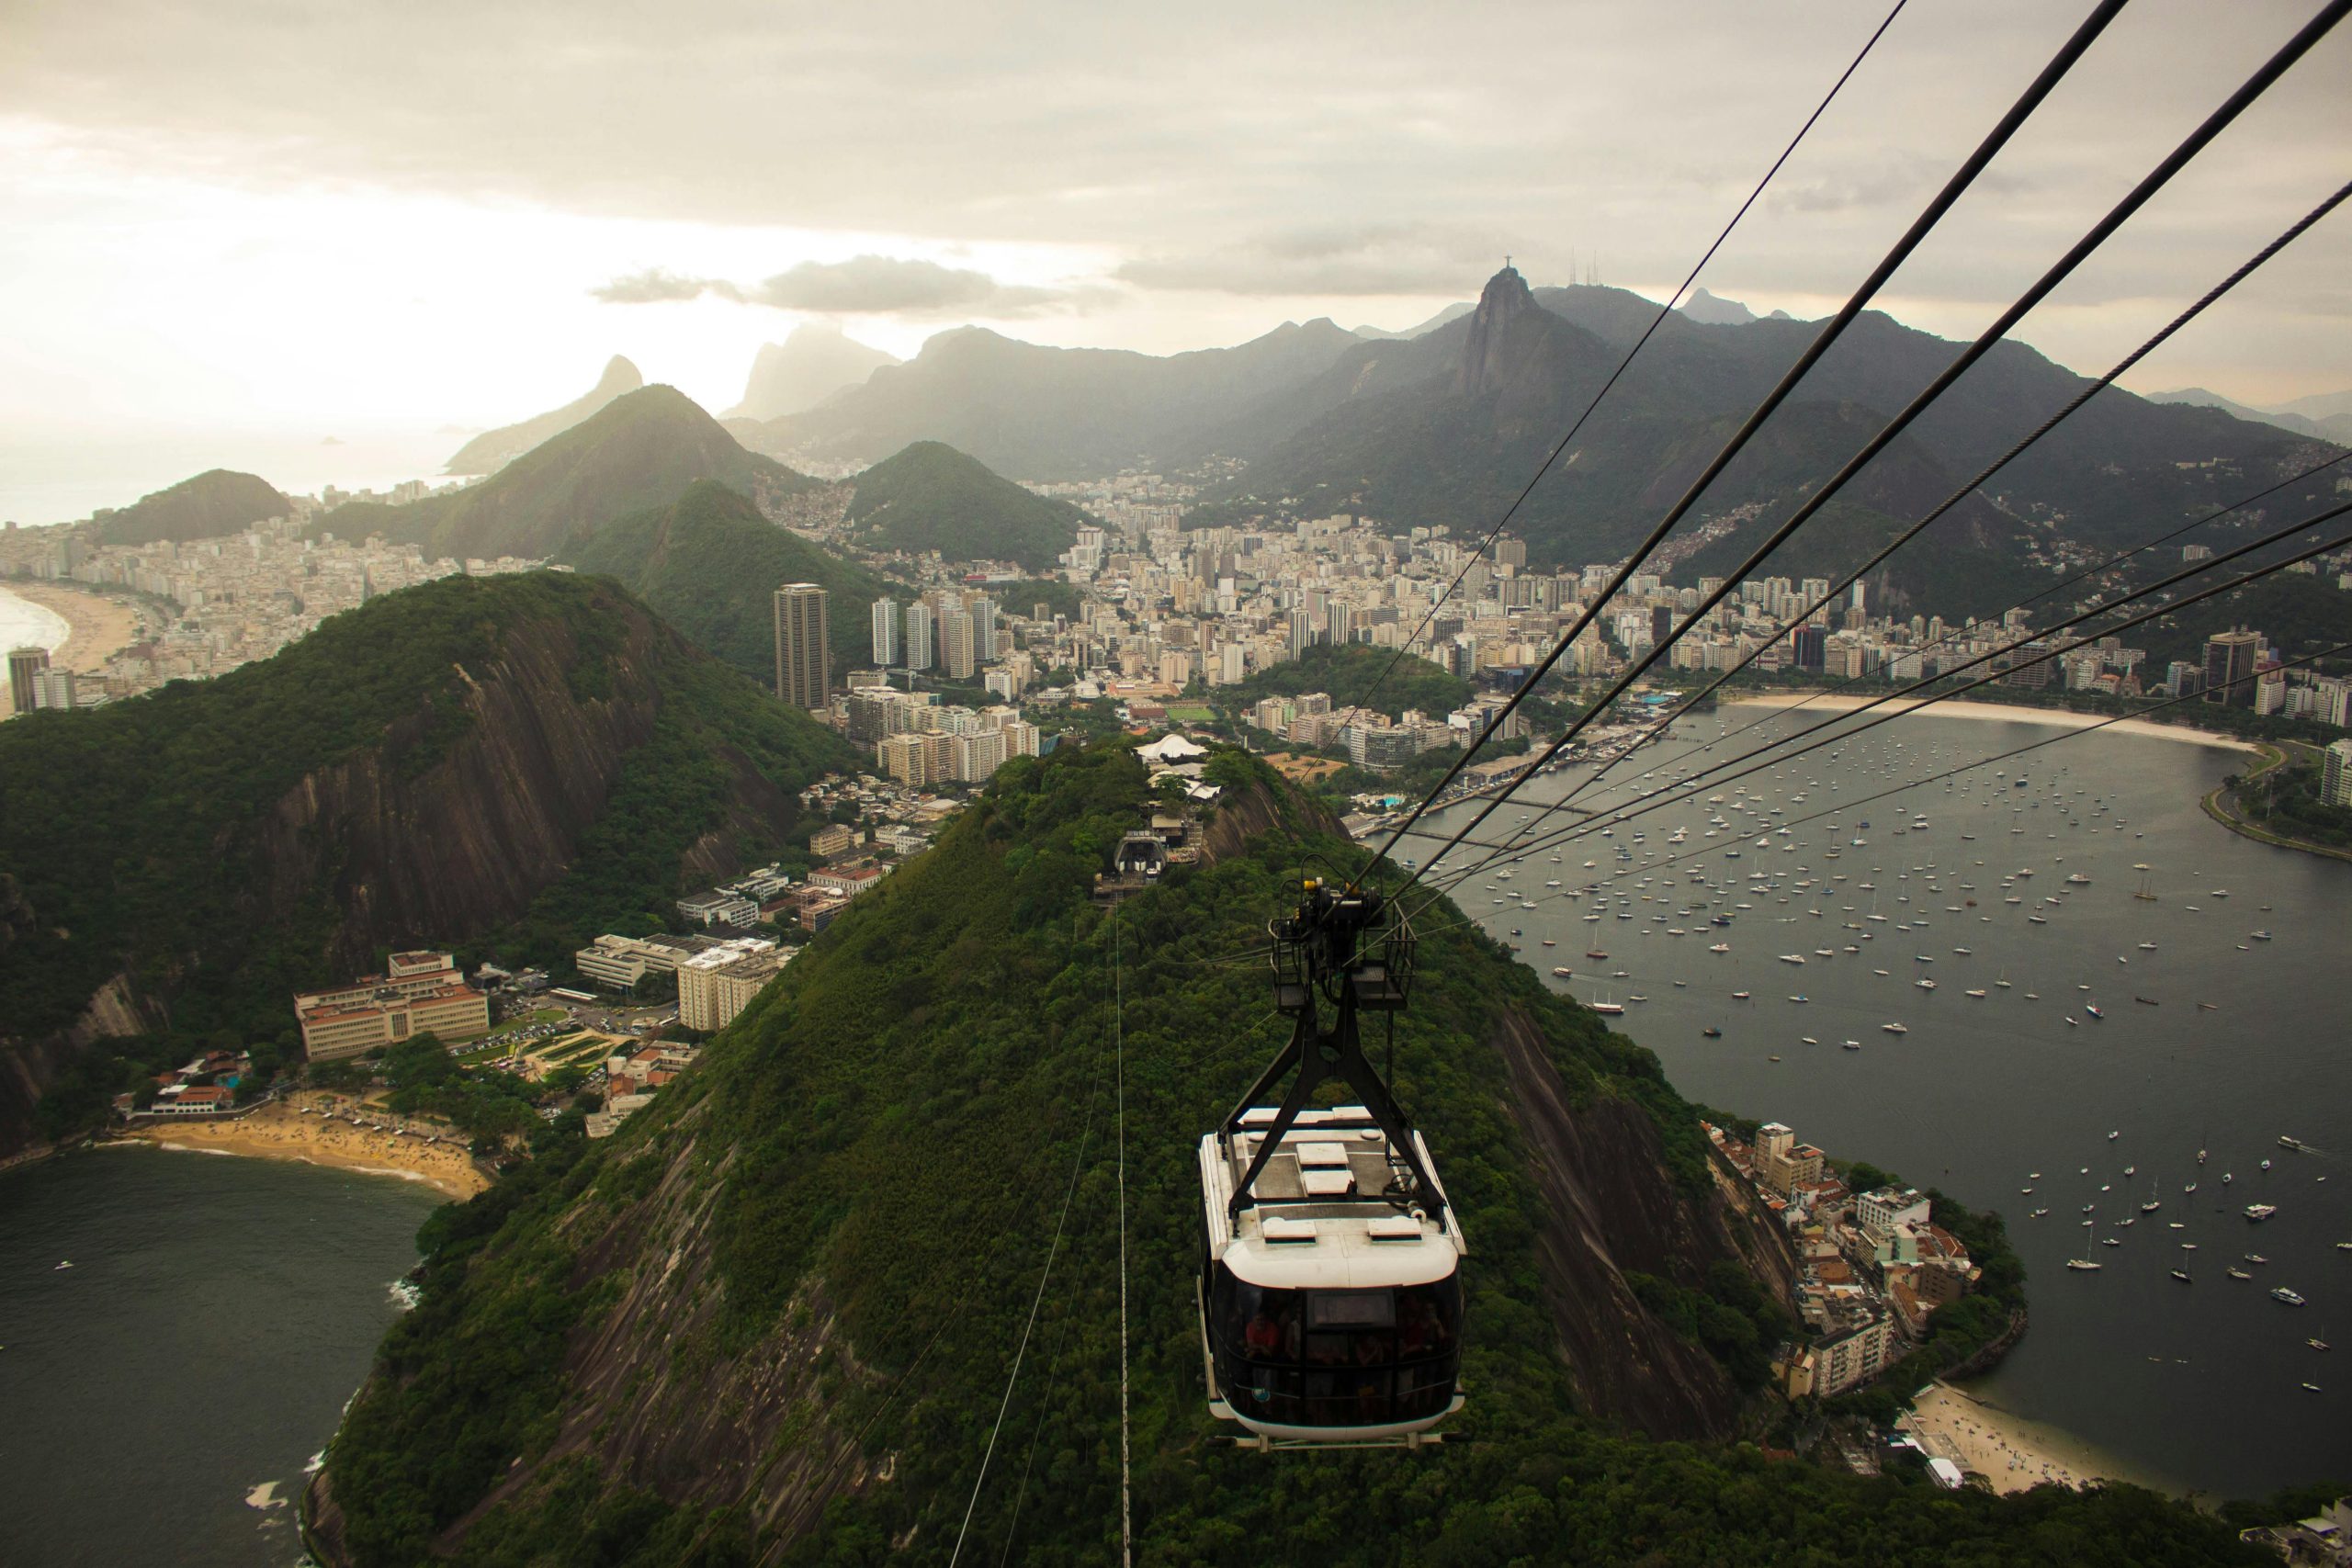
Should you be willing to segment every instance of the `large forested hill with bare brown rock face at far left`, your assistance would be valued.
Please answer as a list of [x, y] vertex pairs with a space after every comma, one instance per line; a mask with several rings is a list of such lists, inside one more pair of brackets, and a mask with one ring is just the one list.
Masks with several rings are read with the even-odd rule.
[[0, 1152], [96, 1034], [275, 1037], [294, 990], [386, 947], [654, 929], [797, 837], [797, 790], [847, 759], [614, 583], [548, 571], [0, 724]]

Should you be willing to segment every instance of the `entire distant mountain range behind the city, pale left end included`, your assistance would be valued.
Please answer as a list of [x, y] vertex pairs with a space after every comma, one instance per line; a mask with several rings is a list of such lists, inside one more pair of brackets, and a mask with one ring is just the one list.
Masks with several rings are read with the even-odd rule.
[[[1350, 334], [1317, 320], [1237, 348], [1155, 360], [957, 329], [823, 407], [739, 433], [811, 463], [877, 463], [936, 440], [1016, 480], [1240, 458], [1247, 470], [1211, 487], [1207, 503], [1484, 529], [1656, 322], [1578, 449], [1522, 510], [1536, 562], [1583, 564], [1639, 538], [1820, 331], [1820, 322], [1757, 315], [1705, 289], [1656, 317], [1656, 301], [1625, 289], [1531, 287], [1508, 270], [1477, 306], [1442, 310], [1409, 336], [1376, 327]], [[1689, 527], [1755, 515], [1724, 522], [1726, 538], [1682, 569], [1736, 564], [1804, 487], [1842, 465], [1959, 350], [1865, 313], [1698, 501]], [[1858, 508], [1844, 520], [1849, 538], [1889, 538], [2082, 386], [2030, 346], [2002, 343], [1832, 510]], [[2147, 515], [2258, 489], [2244, 480], [2303, 465], [2317, 440], [2352, 442], [2352, 404], [2312, 402], [2249, 423], [2223, 409], [2103, 393], [2009, 463], [1990, 496], [1966, 498], [1903, 550], [1872, 588], [1882, 604], [1917, 604], [1931, 583], [1969, 583], [1966, 604], [1990, 607], [2025, 581], [2018, 574], [2034, 552], [2067, 541], [2110, 548], [2133, 538]], [[2345, 428], [2331, 423], [2338, 414]], [[1818, 531], [1813, 543], [1825, 538]]]

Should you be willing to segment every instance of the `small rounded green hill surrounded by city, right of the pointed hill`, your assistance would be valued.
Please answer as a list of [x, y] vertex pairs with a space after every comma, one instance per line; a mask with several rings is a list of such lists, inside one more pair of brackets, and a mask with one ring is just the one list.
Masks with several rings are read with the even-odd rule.
[[938, 550], [950, 562], [1009, 559], [1049, 571], [1084, 522], [1068, 501], [1033, 496], [955, 447], [915, 442], [849, 482], [849, 522], [875, 550]]

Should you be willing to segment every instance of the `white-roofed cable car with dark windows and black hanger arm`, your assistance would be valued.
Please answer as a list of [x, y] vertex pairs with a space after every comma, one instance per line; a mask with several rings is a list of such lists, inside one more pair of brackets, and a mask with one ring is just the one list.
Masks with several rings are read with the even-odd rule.
[[[1463, 1406], [1468, 1246], [1359, 1034], [1359, 1013], [1404, 1009], [1414, 936], [1381, 893], [1319, 879], [1303, 893], [1268, 926], [1291, 1039], [1200, 1140], [1209, 1413], [1261, 1450], [1418, 1448]], [[1294, 1070], [1282, 1103], [1261, 1105]], [[1310, 1110], [1327, 1079], [1359, 1103]]]

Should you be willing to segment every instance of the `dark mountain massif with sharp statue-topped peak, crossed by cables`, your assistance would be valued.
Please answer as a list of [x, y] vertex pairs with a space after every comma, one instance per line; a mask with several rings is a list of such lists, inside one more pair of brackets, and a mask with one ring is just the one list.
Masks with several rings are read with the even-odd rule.
[[[1261, 444], [1235, 447], [1251, 465], [1221, 494], [1364, 510], [1399, 527], [1491, 524], [1653, 315], [1623, 289], [1536, 292], [1515, 270], [1498, 273], [1468, 320], [1350, 348], [1289, 411], [1251, 421]], [[1818, 322], [1668, 317], [1522, 510], [1531, 559], [1623, 555], [1816, 331]], [[1722, 520], [1729, 543], [1682, 576], [1743, 557], [1957, 353], [1865, 313], [1700, 498], [1686, 527]], [[1846, 487], [1849, 534], [1884, 538], [1910, 524], [2082, 386], [2023, 343], [1999, 346]], [[2110, 390], [2011, 463], [1990, 498], [1955, 508], [1875, 588], [1882, 602], [1917, 599], [1922, 583], [1966, 569], [1969, 555], [2023, 562], [2032, 529], [2093, 548], [2138, 538], [2147, 517], [2258, 489], [2317, 451], [2216, 409]], [[1740, 508], [1752, 510], [1745, 522], [1733, 517]]]

